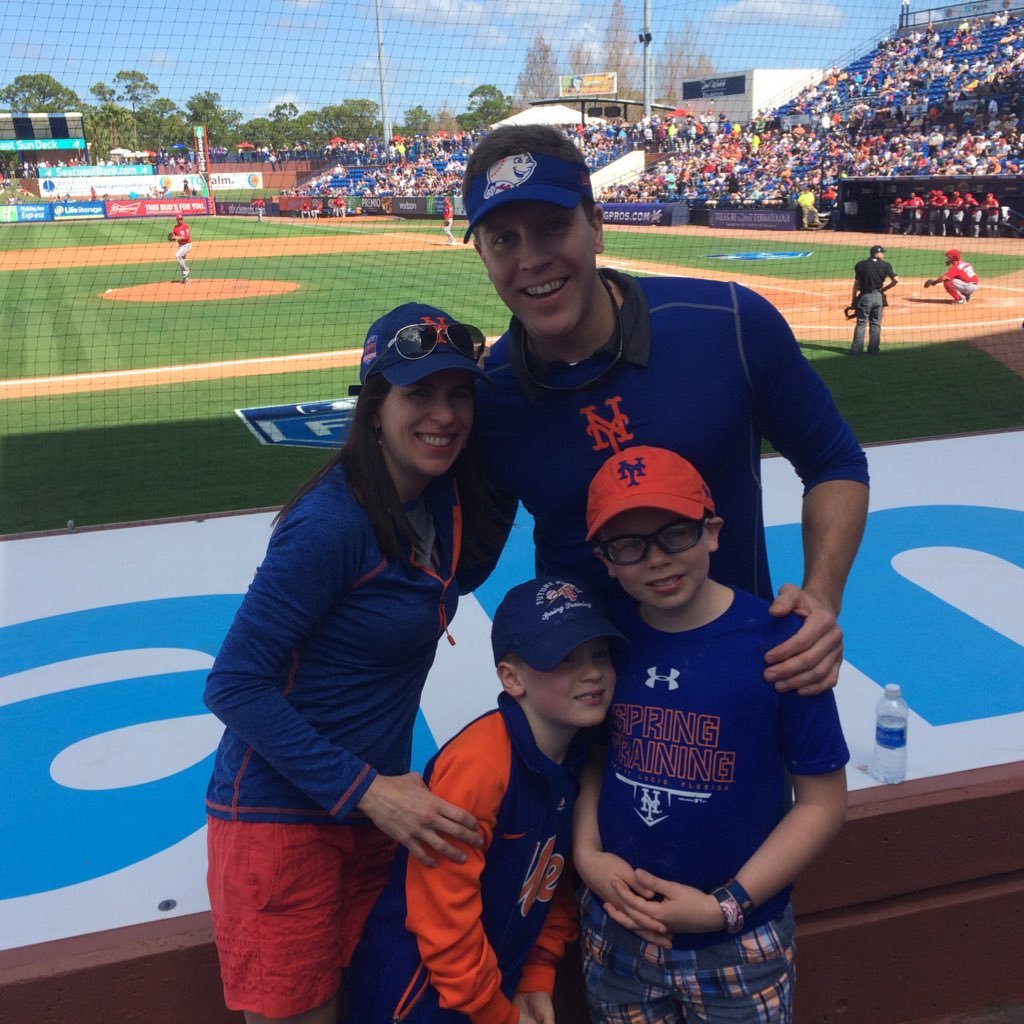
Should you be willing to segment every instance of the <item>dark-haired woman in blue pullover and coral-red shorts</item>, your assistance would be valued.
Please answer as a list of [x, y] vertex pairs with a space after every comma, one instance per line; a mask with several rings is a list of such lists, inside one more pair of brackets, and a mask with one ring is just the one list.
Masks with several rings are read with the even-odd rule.
[[395, 843], [433, 864], [480, 842], [410, 758], [437, 641], [504, 535], [474, 452], [482, 345], [419, 304], [371, 327], [348, 439], [283, 509], [207, 681], [210, 902], [249, 1024], [334, 1024]]

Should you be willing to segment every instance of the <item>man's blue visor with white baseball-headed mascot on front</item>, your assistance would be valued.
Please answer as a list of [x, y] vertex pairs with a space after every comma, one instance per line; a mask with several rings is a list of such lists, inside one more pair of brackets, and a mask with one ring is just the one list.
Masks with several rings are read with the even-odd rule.
[[590, 171], [575, 161], [546, 153], [517, 153], [503, 157], [469, 183], [466, 213], [469, 226], [463, 236], [468, 242], [473, 228], [487, 214], [508, 203], [535, 200], [573, 210], [584, 198], [593, 200]]

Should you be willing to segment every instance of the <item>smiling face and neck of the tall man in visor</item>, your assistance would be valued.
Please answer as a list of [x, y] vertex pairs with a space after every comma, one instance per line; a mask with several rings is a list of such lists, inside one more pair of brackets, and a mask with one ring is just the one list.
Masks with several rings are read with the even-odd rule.
[[476, 227], [487, 276], [541, 358], [583, 358], [611, 334], [614, 312], [597, 275], [603, 231], [600, 207], [588, 217], [582, 205], [534, 200], [499, 207]]

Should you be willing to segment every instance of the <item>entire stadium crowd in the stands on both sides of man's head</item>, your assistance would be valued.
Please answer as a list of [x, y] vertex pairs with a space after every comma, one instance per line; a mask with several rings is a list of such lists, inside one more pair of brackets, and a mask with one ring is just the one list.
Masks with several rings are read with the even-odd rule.
[[[827, 216], [843, 177], [1019, 174], [1024, 19], [1004, 12], [886, 39], [745, 123], [679, 112], [566, 131], [592, 169], [633, 148], [664, 156], [638, 179], [605, 189], [604, 202], [788, 207], [811, 187]], [[325, 153], [337, 162], [290, 194], [452, 194], [482, 134], [441, 132], [386, 147], [337, 139]]]

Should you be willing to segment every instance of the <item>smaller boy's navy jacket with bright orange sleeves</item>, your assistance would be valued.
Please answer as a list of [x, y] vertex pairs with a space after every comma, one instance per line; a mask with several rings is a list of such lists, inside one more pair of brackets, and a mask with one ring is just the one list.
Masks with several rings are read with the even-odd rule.
[[475, 815], [484, 843], [436, 867], [399, 851], [352, 961], [353, 1021], [515, 1024], [516, 992], [551, 993], [578, 934], [569, 850], [584, 745], [577, 737], [555, 764], [502, 694], [438, 752], [424, 778]]

